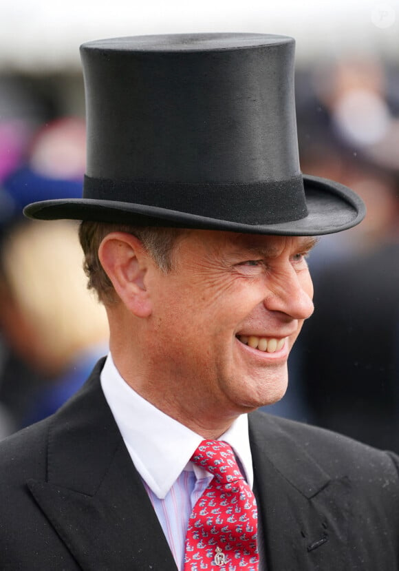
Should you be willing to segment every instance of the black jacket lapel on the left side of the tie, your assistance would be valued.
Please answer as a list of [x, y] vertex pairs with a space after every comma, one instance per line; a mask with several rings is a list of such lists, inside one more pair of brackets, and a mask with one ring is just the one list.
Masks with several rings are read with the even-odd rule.
[[[49, 431], [47, 479], [28, 487], [85, 571], [175, 571], [99, 383], [100, 364]], [[61, 428], [60, 428], [61, 427]]]

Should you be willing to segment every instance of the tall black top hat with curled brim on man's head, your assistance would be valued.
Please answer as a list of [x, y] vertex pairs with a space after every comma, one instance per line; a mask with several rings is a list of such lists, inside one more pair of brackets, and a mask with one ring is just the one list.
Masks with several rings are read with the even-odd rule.
[[292, 38], [177, 34], [80, 49], [83, 198], [34, 203], [27, 216], [303, 236], [363, 219], [353, 191], [301, 174]]

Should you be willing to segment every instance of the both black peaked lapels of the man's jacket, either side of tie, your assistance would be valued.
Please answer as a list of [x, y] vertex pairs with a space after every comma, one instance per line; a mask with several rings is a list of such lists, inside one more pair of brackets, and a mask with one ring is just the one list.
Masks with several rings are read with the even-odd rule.
[[[47, 477], [28, 488], [84, 571], [176, 571], [100, 388], [102, 366], [55, 415]], [[250, 439], [268, 571], [345, 570], [347, 482], [332, 481], [273, 417], [250, 415]]]

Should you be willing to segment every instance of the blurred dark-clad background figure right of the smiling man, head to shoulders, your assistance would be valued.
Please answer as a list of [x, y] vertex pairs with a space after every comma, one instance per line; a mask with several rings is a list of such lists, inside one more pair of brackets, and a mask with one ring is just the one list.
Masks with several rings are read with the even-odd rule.
[[376, 62], [341, 62], [321, 78], [321, 98], [299, 109], [301, 164], [355, 189], [367, 215], [310, 257], [316, 311], [275, 413], [399, 451], [399, 101]]

